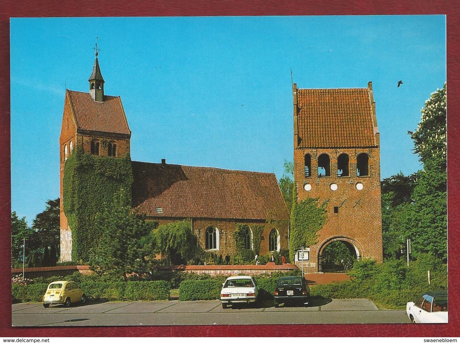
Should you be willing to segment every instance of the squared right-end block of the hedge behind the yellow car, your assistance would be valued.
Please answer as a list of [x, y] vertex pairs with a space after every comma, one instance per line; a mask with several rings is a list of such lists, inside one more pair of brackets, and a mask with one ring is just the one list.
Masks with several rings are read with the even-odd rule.
[[171, 284], [168, 281], [128, 281], [124, 300], [168, 300]]

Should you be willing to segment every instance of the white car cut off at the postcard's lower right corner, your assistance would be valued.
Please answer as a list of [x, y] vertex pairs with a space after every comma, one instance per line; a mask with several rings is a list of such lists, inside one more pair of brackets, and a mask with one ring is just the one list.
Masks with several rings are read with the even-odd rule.
[[423, 293], [415, 302], [407, 303], [406, 313], [413, 323], [447, 323], [447, 291]]

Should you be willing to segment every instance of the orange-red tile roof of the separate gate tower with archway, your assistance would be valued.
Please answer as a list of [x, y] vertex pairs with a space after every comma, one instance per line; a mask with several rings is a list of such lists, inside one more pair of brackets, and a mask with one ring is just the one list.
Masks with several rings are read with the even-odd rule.
[[368, 88], [297, 89], [299, 148], [377, 146]]

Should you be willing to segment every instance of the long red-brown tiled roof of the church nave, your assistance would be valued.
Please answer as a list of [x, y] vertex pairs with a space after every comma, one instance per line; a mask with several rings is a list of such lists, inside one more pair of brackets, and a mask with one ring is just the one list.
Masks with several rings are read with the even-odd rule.
[[275, 174], [132, 162], [134, 207], [148, 217], [288, 220]]

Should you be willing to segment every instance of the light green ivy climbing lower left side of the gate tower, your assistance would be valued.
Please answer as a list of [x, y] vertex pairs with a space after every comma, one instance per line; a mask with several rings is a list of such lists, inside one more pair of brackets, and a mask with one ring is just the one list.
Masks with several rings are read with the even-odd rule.
[[293, 206], [291, 209], [291, 230], [289, 255], [295, 256], [302, 246], [317, 243], [318, 231], [326, 223], [327, 202], [319, 204], [318, 198], [307, 198], [297, 204], [297, 191], [293, 187]]

